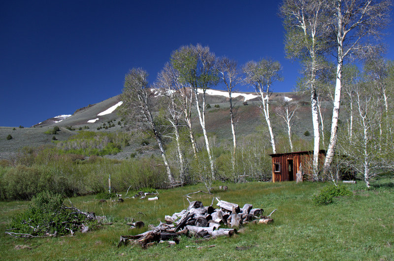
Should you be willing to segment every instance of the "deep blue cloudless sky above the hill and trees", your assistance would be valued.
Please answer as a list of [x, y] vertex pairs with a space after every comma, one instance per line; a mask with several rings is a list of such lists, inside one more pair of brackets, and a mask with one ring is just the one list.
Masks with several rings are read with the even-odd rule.
[[[0, 126], [29, 127], [118, 95], [132, 67], [146, 69], [153, 83], [171, 52], [187, 44], [208, 45], [240, 65], [278, 60], [284, 81], [274, 91], [292, 91], [299, 65], [285, 58], [278, 3], [3, 0]], [[393, 35], [386, 41], [394, 45]], [[387, 57], [394, 59], [391, 46]]]

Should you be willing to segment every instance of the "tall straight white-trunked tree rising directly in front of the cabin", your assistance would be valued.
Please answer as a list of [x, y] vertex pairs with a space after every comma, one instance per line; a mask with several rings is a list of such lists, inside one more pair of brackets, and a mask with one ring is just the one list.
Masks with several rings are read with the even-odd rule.
[[286, 52], [289, 58], [299, 59], [306, 78], [305, 88], [310, 92], [313, 124], [313, 178], [318, 179], [320, 131], [318, 86], [316, 77], [323, 68], [323, 55], [328, 49], [328, 1], [283, 0], [280, 13], [286, 29]]

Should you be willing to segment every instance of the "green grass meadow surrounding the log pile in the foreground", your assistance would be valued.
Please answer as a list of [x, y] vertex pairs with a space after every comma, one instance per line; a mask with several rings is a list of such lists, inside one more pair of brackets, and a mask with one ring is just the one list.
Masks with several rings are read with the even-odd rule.
[[[202, 190], [202, 185], [161, 190], [157, 201], [125, 199], [123, 203], [99, 203], [94, 196], [70, 198], [83, 210], [107, 216], [113, 225], [76, 236], [15, 239], [4, 233], [12, 215], [27, 207], [26, 201], [0, 202], [1, 260], [393, 260], [393, 179], [383, 178], [372, 190], [349, 185], [353, 196], [335, 198], [329, 205], [316, 206], [312, 195], [324, 183], [294, 182], [226, 184], [226, 192], [214, 190], [222, 200], [251, 203], [272, 210], [273, 224], [246, 225], [231, 238], [209, 240], [182, 237], [178, 245], [158, 244], [117, 248], [120, 235], [136, 234], [147, 228], [128, 230], [125, 218], [158, 225], [164, 215], [188, 206], [183, 196]], [[217, 188], [219, 184], [215, 184]], [[209, 205], [212, 196], [194, 194], [193, 199]], [[68, 202], [68, 199], [65, 200]], [[216, 201], [215, 203], [216, 204]], [[142, 214], [141, 214], [142, 213]]]

